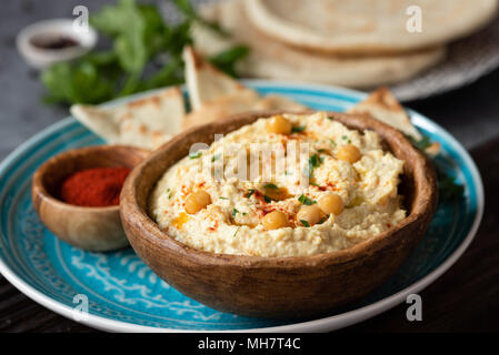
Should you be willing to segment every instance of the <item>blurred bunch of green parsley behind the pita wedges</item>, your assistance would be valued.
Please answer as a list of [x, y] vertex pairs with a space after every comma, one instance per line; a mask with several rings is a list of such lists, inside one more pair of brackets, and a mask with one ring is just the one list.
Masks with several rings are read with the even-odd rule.
[[[163, 21], [158, 7], [119, 0], [90, 14], [90, 23], [110, 38], [110, 48], [46, 69], [41, 81], [49, 104], [97, 104], [184, 81], [182, 50], [192, 43], [192, 21], [204, 22], [188, 0], [177, 0], [186, 14], [178, 24]], [[213, 24], [213, 28], [217, 26]], [[236, 63], [249, 49], [234, 47], [212, 58], [214, 65], [236, 74]], [[168, 58], [164, 63], [163, 58]]]

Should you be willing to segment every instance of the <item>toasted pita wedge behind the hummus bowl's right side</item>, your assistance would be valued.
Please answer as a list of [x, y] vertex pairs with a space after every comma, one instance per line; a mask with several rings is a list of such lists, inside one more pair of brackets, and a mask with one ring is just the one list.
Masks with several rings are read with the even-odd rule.
[[422, 139], [421, 133], [410, 122], [406, 110], [403, 110], [393, 94], [385, 87], [372, 92], [365, 101], [350, 108], [347, 112], [369, 114], [379, 121], [395, 126], [417, 141]]

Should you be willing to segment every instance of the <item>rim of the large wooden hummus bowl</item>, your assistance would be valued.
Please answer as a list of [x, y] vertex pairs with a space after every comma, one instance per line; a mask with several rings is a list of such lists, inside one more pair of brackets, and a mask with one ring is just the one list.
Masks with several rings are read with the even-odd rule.
[[[335, 119], [340, 119], [340, 122], [346, 124], [347, 126], [352, 123], [365, 122], [366, 129], [371, 129], [375, 131], [385, 130], [389, 132], [390, 140], [393, 142], [398, 142], [398, 144], [402, 144], [405, 149], [407, 149], [411, 155], [415, 156], [416, 163], [421, 165], [421, 170], [415, 170], [415, 181], [417, 180], [423, 186], [429, 189], [428, 196], [419, 196], [415, 199], [413, 202], [413, 211], [406, 216], [401, 222], [391, 229], [375, 235], [366, 241], [359, 242], [351, 247], [320, 253], [315, 255], [306, 255], [306, 256], [256, 256], [256, 255], [240, 255], [240, 254], [222, 254], [222, 253], [211, 253], [202, 250], [198, 250], [191, 247], [187, 244], [183, 244], [176, 239], [171, 237], [168, 233], [162, 231], [159, 225], [149, 216], [148, 212], [140, 207], [137, 199], [137, 182], [140, 179], [142, 171], [151, 164], [151, 162], [168, 152], [171, 148], [181, 144], [181, 142], [190, 135], [201, 133], [206, 131], [207, 128], [217, 129], [220, 128], [220, 131], [226, 134], [231, 131], [227, 131], [223, 128], [230, 126], [230, 124], [237, 125], [237, 129], [251, 124], [251, 122], [257, 121], [258, 119], [270, 118], [275, 114], [311, 114], [315, 112], [327, 112], [328, 115], [335, 116]], [[240, 124], [241, 122], [246, 122], [250, 120], [250, 122], [246, 124]], [[345, 121], [351, 120], [350, 124]], [[357, 122], [355, 122], [357, 121]], [[239, 125], [240, 124], [240, 125]], [[351, 126], [349, 126], [352, 129]], [[360, 130], [358, 128], [353, 128], [356, 130]], [[363, 130], [366, 130], [363, 129]], [[382, 134], [388, 136], [388, 134]], [[178, 162], [178, 161], [177, 161]], [[173, 163], [172, 163], [173, 164]], [[168, 168], [172, 166], [169, 165]], [[164, 171], [166, 172], [166, 171]], [[163, 172], [163, 173], [164, 173]], [[418, 178], [417, 178], [418, 176]], [[425, 180], [423, 178], [427, 178]], [[156, 181], [151, 186], [156, 185], [158, 181]], [[149, 191], [148, 200], [152, 192], [152, 187]], [[390, 237], [397, 235], [407, 229], [415, 227], [416, 224], [421, 222], [427, 214], [430, 214], [431, 217], [436, 211], [438, 201], [438, 189], [437, 189], [437, 176], [435, 172], [435, 168], [429, 161], [429, 159], [421, 153], [409, 140], [397, 129], [378, 121], [369, 115], [363, 114], [351, 114], [351, 113], [340, 113], [333, 111], [325, 111], [325, 110], [300, 110], [300, 111], [290, 111], [290, 110], [277, 110], [277, 111], [259, 111], [259, 112], [246, 112], [242, 114], [234, 114], [224, 120], [207, 123], [198, 126], [193, 126], [184, 132], [176, 135], [172, 140], [163, 144], [161, 148], [152, 152], [143, 162], [141, 162], [136, 169], [130, 173], [127, 179], [123, 189], [121, 191], [120, 199], [120, 215], [123, 222], [123, 226], [127, 231], [127, 219], [130, 215], [134, 215], [138, 219], [138, 222], [131, 222], [132, 224], [140, 225], [141, 227], [141, 237], [146, 237], [148, 242], [156, 244], [158, 247], [167, 248], [169, 252], [177, 254], [176, 256], [182, 257], [184, 260], [193, 261], [197, 264], [202, 264], [204, 266], [227, 266], [227, 267], [279, 267], [279, 268], [293, 268], [293, 267], [315, 267], [315, 266], [326, 266], [331, 264], [342, 264], [348, 263], [353, 260], [361, 257], [362, 255], [367, 255], [370, 253], [375, 253], [381, 248], [383, 248], [387, 244], [390, 244]], [[149, 204], [149, 201], [148, 201]], [[128, 236], [128, 233], [127, 233]], [[130, 243], [133, 246], [133, 243]]]

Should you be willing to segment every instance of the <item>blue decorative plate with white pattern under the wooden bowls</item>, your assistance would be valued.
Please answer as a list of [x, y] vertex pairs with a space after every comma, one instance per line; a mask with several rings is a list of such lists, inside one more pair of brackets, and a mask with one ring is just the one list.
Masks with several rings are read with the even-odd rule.
[[[343, 111], [365, 98], [363, 93], [331, 87], [246, 83], [262, 94], [287, 95], [319, 110]], [[162, 282], [131, 248], [89, 253], [54, 237], [31, 204], [33, 172], [62, 151], [102, 143], [72, 118], [37, 134], [0, 165], [0, 271], [40, 304], [107, 331], [330, 331], [363, 321], [403, 302], [448, 270], [471, 242], [482, 215], [482, 183], [468, 153], [442, 128], [410, 113], [415, 124], [442, 145], [437, 164], [465, 186], [465, 196], [440, 203], [426, 237], [397, 275], [341, 313], [308, 321], [220, 313]], [[88, 300], [89, 314], [82, 317], [74, 308], [81, 308], [83, 298]]]

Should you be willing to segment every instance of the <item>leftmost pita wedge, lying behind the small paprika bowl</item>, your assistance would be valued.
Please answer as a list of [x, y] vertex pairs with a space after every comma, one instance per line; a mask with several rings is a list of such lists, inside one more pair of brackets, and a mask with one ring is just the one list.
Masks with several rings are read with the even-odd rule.
[[152, 150], [181, 131], [186, 111], [181, 90], [170, 88], [112, 108], [76, 104], [71, 114], [110, 144]]

